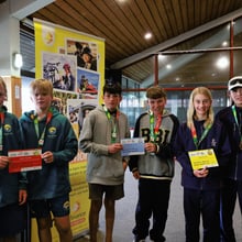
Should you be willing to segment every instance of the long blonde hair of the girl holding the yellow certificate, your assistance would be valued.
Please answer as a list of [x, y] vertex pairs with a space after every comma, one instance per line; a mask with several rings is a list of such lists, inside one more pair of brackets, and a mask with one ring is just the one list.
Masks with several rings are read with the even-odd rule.
[[[195, 88], [191, 94], [190, 94], [190, 98], [189, 98], [189, 105], [188, 105], [188, 109], [187, 109], [187, 127], [189, 129], [191, 129], [191, 127], [194, 127], [194, 118], [196, 116], [196, 111], [194, 108], [194, 99], [196, 95], [204, 95], [207, 98], [209, 98], [210, 102], [212, 102], [212, 96], [211, 96], [211, 91], [207, 88], [207, 87], [197, 87]], [[205, 121], [205, 127], [212, 124], [213, 123], [213, 110], [212, 110], [212, 106], [210, 106], [208, 113], [207, 113], [207, 120]]]

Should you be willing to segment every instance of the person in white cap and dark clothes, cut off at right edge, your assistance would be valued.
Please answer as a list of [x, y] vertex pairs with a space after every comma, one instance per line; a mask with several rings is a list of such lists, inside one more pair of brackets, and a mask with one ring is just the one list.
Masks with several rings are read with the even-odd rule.
[[235, 242], [233, 212], [237, 195], [242, 211], [242, 76], [231, 78], [228, 90], [232, 105], [217, 114], [228, 129], [232, 150], [221, 196], [221, 242]]

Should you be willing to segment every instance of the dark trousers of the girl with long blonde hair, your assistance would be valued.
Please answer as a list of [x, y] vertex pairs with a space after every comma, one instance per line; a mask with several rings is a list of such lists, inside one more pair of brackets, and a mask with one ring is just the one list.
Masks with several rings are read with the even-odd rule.
[[199, 242], [200, 216], [204, 242], [219, 242], [220, 190], [196, 190], [184, 188], [184, 212], [186, 242]]

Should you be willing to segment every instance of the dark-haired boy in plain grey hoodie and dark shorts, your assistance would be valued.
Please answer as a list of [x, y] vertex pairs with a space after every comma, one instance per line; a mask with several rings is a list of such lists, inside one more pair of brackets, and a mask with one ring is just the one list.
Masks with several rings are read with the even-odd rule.
[[[106, 208], [106, 242], [112, 242], [116, 200], [124, 196], [127, 157], [121, 156], [121, 139], [130, 138], [128, 118], [120, 112], [121, 87], [103, 86], [103, 105], [90, 111], [80, 132], [79, 147], [88, 153], [87, 182], [89, 198], [90, 241], [97, 242], [102, 199]], [[105, 197], [105, 198], [103, 198]]]

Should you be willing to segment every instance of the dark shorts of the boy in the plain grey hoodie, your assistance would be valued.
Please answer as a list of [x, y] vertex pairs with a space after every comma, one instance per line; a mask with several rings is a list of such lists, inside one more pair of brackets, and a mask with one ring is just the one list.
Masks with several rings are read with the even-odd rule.
[[102, 185], [102, 184], [88, 184], [89, 199], [101, 200], [103, 194], [110, 200], [119, 200], [124, 197], [123, 184], [120, 185]]

